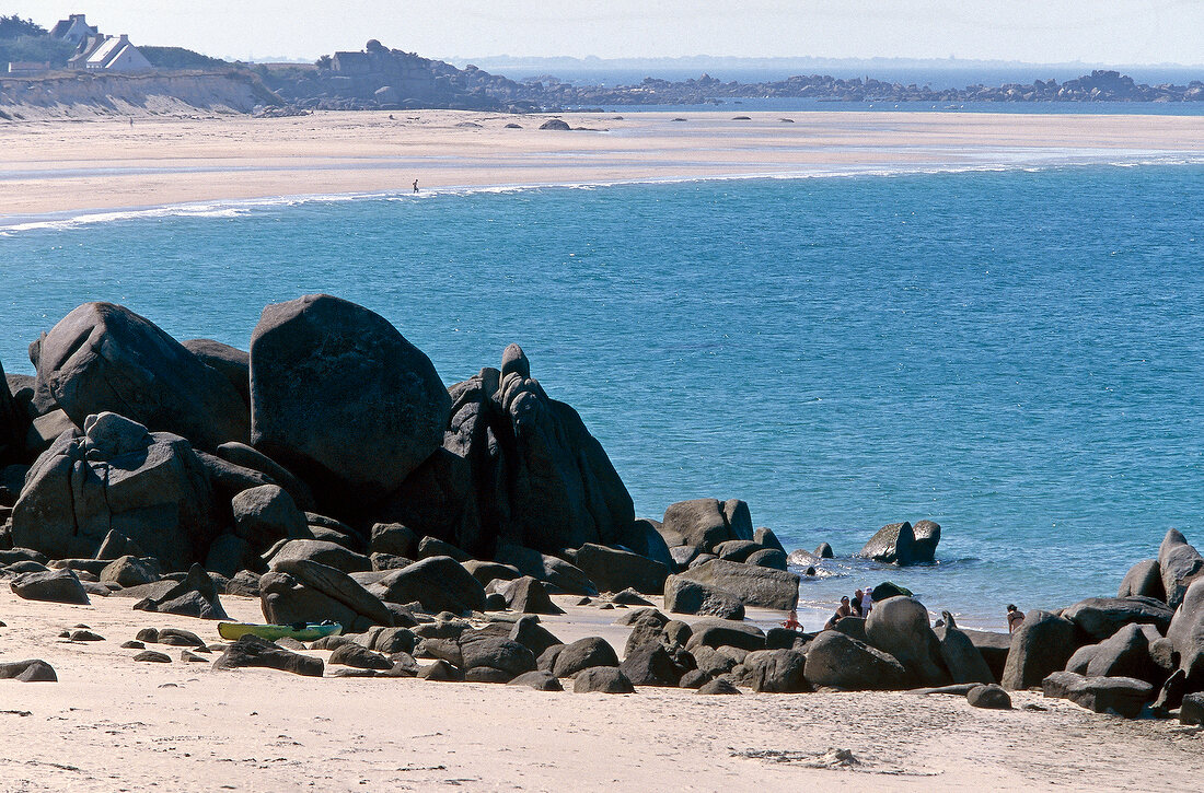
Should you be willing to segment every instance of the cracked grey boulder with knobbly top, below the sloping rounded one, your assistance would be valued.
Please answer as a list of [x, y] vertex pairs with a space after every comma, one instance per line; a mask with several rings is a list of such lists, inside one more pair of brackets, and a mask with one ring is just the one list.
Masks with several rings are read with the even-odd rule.
[[165, 569], [203, 561], [222, 532], [205, 468], [183, 438], [113, 413], [60, 436], [30, 469], [13, 543], [54, 558], [92, 557], [112, 529]]

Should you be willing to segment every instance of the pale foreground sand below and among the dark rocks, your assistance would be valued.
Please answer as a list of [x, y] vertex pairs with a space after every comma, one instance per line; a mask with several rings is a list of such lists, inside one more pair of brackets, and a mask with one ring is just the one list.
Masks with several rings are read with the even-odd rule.
[[[4, 659], [43, 658], [59, 676], [0, 682], [0, 720], [19, 736], [0, 762], [5, 791], [1155, 791], [1187, 789], [1204, 773], [1199, 728], [1031, 692], [1014, 693], [1015, 710], [985, 711], [905, 693], [614, 696], [332, 679], [334, 665], [324, 679], [216, 671], [181, 663], [179, 647], [148, 645], [173, 658], [157, 664], [119, 646], [142, 627], [217, 643], [212, 621], [134, 611], [122, 597], [71, 606], [4, 588]], [[602, 635], [621, 652], [627, 629], [612, 623], [622, 611], [556, 600], [568, 614], [544, 616], [547, 628]], [[255, 599], [223, 603], [235, 619], [261, 619]], [[57, 638], [81, 623], [105, 640]], [[831, 750], [858, 762], [833, 763]]]

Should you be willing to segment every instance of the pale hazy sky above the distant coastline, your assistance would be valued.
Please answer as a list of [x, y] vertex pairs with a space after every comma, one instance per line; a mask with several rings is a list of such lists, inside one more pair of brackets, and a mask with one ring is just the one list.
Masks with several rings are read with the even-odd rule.
[[1204, 64], [1204, 0], [0, 0], [226, 58], [368, 39], [435, 58], [748, 55]]

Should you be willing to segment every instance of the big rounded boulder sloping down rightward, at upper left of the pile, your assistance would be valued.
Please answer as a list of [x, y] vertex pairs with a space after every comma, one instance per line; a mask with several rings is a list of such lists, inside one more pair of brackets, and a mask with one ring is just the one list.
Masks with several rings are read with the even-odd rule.
[[84, 303], [30, 350], [39, 389], [77, 426], [111, 410], [212, 450], [249, 436], [230, 381], [150, 320], [113, 303]]

